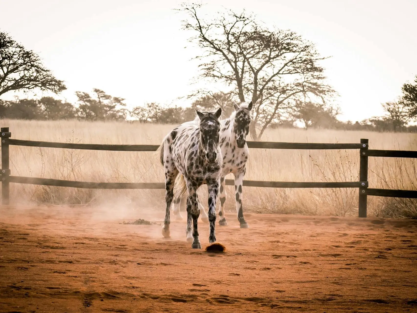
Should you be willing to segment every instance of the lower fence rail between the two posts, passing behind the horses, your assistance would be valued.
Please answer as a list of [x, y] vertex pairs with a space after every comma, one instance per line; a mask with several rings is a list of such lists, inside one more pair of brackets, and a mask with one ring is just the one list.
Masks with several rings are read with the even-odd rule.
[[[73, 187], [88, 189], [165, 189], [165, 183], [127, 183], [127, 182], [78, 182], [73, 180], [50, 179], [38, 177], [9, 176], [9, 182], [57, 187]], [[226, 179], [225, 184], [234, 186], [234, 179]], [[367, 187], [368, 182], [264, 182], [244, 180], [246, 187], [266, 188], [359, 188]]]

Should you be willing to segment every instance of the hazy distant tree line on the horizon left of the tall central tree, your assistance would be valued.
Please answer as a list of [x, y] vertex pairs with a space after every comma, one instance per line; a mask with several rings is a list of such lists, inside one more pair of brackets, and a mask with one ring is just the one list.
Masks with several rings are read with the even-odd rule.
[[93, 93], [76, 91], [78, 100], [69, 103], [53, 97], [40, 99], [0, 99], [0, 118], [29, 120], [80, 119], [86, 121], [124, 121], [133, 119], [140, 123], [178, 124], [195, 118], [195, 109], [211, 111], [221, 106], [229, 116], [234, 110], [230, 94], [205, 95], [192, 103], [191, 107], [163, 106], [146, 103], [132, 110], [126, 109], [123, 98], [113, 97], [100, 89]]

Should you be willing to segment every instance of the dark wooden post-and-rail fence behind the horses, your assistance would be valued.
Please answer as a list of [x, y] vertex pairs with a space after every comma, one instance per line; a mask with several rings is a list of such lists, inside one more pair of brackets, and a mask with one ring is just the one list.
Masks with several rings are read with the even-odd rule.
[[[12, 176], [9, 167], [9, 146], [34, 146], [65, 149], [88, 149], [107, 151], [156, 151], [158, 145], [148, 144], [71, 144], [47, 141], [32, 141], [10, 139], [11, 133], [8, 127], [1, 128], [1, 179], [2, 179], [2, 204], [9, 204], [9, 184], [35, 184], [74, 188], [93, 189], [165, 189], [165, 183], [109, 183], [109, 182], [76, 182], [62, 179], [49, 179], [37, 177]], [[359, 149], [359, 182], [264, 182], [245, 180], [243, 186], [247, 187], [270, 187], [270, 188], [359, 188], [359, 217], [367, 216], [367, 196], [417, 198], [415, 190], [392, 190], [368, 188], [368, 157], [401, 157], [417, 158], [417, 151], [397, 150], [371, 150], [368, 149], [368, 139], [361, 139], [360, 144], [308, 144], [291, 142], [266, 142], [247, 141], [252, 149]], [[233, 179], [226, 179], [226, 185], [234, 185]]]

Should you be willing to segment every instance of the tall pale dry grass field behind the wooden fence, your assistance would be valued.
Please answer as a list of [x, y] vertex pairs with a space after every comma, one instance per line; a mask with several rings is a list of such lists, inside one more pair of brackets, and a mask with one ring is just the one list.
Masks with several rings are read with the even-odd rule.
[[[12, 138], [95, 143], [160, 144], [172, 125], [127, 122], [17, 121], [1, 120]], [[264, 134], [265, 141], [358, 143], [369, 139], [371, 149], [417, 150], [416, 134], [367, 131], [276, 129]], [[154, 152], [90, 151], [10, 146], [13, 175], [70, 179], [90, 182], [163, 182], [163, 171]], [[232, 177], [232, 175], [231, 175]], [[369, 158], [369, 186], [416, 189], [414, 159]], [[229, 178], [229, 177], [228, 177]], [[358, 181], [357, 150], [251, 149], [246, 179], [275, 181]], [[234, 187], [227, 187], [229, 195]], [[205, 187], [201, 188], [206, 201]], [[357, 215], [358, 190], [338, 189], [244, 189], [244, 210], [268, 213], [313, 215]], [[164, 210], [163, 190], [97, 190], [64, 187], [11, 185], [11, 199], [42, 204], [130, 204]], [[412, 199], [368, 197], [369, 215], [416, 217]], [[228, 197], [226, 210], [234, 210]]]

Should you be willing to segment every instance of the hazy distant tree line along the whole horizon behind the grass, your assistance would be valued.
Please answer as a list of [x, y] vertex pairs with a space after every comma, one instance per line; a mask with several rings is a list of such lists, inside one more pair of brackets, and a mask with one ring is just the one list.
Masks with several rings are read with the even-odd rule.
[[[410, 84], [404, 84], [409, 86]], [[417, 89], [416, 84], [413, 85]], [[146, 103], [132, 110], [126, 109], [123, 98], [113, 97], [100, 89], [93, 93], [76, 92], [78, 101], [75, 104], [53, 97], [40, 99], [0, 100], [0, 118], [3, 119], [37, 119], [59, 120], [79, 119], [86, 121], [124, 121], [138, 123], [181, 124], [195, 117], [194, 108], [200, 111], [212, 111], [219, 106], [223, 116], [228, 117], [234, 111], [234, 104], [239, 104], [232, 93], [208, 93], [197, 97], [191, 106], [166, 106], [159, 103]], [[337, 106], [318, 104], [310, 101], [297, 101], [294, 106], [280, 110], [276, 118], [269, 123], [271, 128], [305, 129], [343, 129], [374, 131], [409, 131], [416, 132], [417, 126], [407, 126], [409, 121], [416, 121], [417, 102], [405, 104], [404, 96], [398, 101], [383, 103], [386, 114], [363, 121], [339, 121]], [[407, 98], [406, 98], [407, 99]], [[412, 100], [414, 101], [414, 100]], [[260, 126], [258, 126], [260, 127]]]

